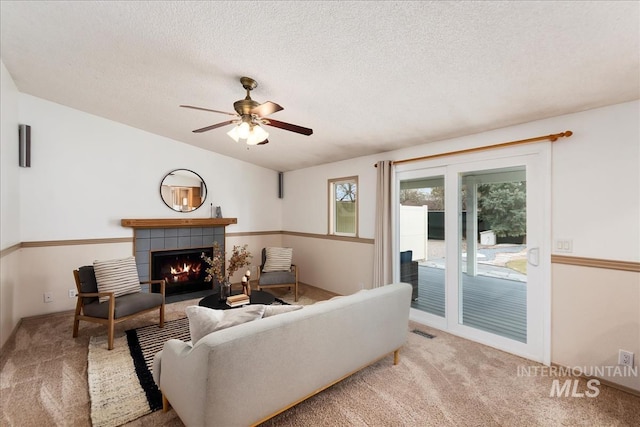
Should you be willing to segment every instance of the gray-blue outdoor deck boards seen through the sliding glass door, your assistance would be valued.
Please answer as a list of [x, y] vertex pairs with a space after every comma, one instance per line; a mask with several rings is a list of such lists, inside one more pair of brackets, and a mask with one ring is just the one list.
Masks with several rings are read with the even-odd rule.
[[[527, 341], [526, 283], [464, 275], [462, 292], [464, 325], [516, 341]], [[411, 307], [444, 317], [444, 269], [418, 267], [418, 299]]]

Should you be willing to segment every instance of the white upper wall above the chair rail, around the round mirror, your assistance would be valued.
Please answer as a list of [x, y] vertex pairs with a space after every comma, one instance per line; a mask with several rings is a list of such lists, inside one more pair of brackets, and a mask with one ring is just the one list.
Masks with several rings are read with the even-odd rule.
[[[282, 203], [263, 183], [277, 172], [21, 94], [31, 125], [31, 168], [20, 171], [22, 241], [132, 236], [122, 218], [205, 218], [210, 203], [238, 218], [229, 231], [280, 230]], [[207, 184], [204, 206], [170, 210], [167, 172], [191, 169]], [[254, 212], [259, 209], [260, 215]]]

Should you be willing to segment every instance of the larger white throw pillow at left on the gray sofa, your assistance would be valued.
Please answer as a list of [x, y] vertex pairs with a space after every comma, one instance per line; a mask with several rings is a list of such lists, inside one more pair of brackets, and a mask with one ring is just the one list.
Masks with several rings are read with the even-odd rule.
[[190, 305], [184, 311], [189, 318], [191, 342], [196, 345], [201, 338], [211, 332], [262, 318], [264, 305], [247, 305], [232, 310], [214, 310], [198, 305]]

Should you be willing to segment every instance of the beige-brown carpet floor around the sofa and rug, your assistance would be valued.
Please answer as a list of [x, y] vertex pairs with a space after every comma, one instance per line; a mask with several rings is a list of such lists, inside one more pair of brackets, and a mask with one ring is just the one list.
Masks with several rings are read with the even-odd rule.
[[[184, 317], [197, 300], [167, 306]], [[72, 314], [25, 319], [0, 355], [0, 425], [90, 426], [87, 354], [104, 328]], [[124, 331], [157, 322], [149, 314]], [[410, 322], [435, 335], [409, 333], [393, 365], [390, 355], [264, 423], [271, 426], [638, 426], [640, 398], [601, 385], [597, 397], [550, 397], [554, 378], [519, 376], [534, 362]], [[116, 344], [124, 348], [126, 344]], [[564, 379], [563, 379], [564, 380]], [[588, 390], [579, 379], [578, 389]], [[182, 426], [175, 411], [155, 411], [126, 426]]]

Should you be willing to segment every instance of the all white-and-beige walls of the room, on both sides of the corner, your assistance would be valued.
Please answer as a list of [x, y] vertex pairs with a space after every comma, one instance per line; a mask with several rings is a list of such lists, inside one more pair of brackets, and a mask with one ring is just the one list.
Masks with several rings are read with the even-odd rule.
[[[574, 256], [640, 261], [638, 101], [287, 172], [285, 198], [279, 200], [272, 191], [275, 171], [18, 94], [4, 66], [1, 89], [0, 249], [19, 242], [132, 236], [131, 230], [120, 227], [121, 218], [209, 216], [206, 208], [190, 214], [174, 213], [160, 200], [158, 187], [164, 174], [183, 167], [198, 172], [207, 182], [205, 206], [213, 202], [222, 206], [225, 216], [238, 218], [238, 225], [227, 231], [241, 234], [231, 236], [230, 243], [248, 241], [256, 254], [268, 244], [291, 245], [297, 248], [294, 260], [301, 265], [301, 281], [349, 294], [370, 286], [370, 241], [334, 241], [295, 233], [243, 236], [242, 232], [285, 230], [324, 235], [327, 180], [357, 175], [359, 237], [372, 239], [373, 165], [377, 160], [572, 130], [571, 138], [553, 144], [550, 236], [572, 239]], [[32, 126], [33, 157], [28, 169], [17, 168], [18, 123]], [[263, 191], [263, 183], [269, 183], [268, 191]], [[2, 344], [17, 319], [73, 306], [73, 299], [64, 298], [67, 289], [74, 286], [74, 266], [98, 256], [128, 255], [129, 248], [122, 243], [54, 246], [23, 248], [3, 256]], [[38, 265], [39, 269], [34, 268]], [[636, 361], [640, 359], [639, 287], [638, 273], [554, 266], [552, 361], [600, 365], [603, 360], [612, 360], [618, 348], [634, 351]], [[54, 303], [42, 302], [43, 291], [54, 292]], [[574, 298], [576, 294], [580, 300]], [[617, 310], [619, 304], [623, 310]], [[605, 315], [594, 322], [594, 312]], [[598, 329], [595, 335], [594, 325]], [[625, 332], [611, 333], [620, 328]], [[640, 390], [636, 383], [618, 382]]]

